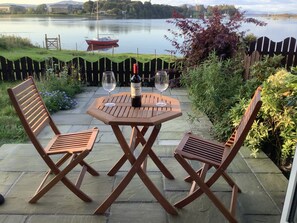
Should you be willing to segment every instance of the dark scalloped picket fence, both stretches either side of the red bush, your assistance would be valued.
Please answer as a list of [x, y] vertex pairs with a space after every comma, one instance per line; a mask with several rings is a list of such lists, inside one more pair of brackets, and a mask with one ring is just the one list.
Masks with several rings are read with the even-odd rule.
[[[281, 66], [290, 69], [297, 66], [297, 43], [293, 37], [288, 37], [281, 42], [274, 42], [268, 37], [261, 37], [251, 43], [247, 49], [244, 58], [244, 78], [250, 78], [250, 67], [261, 60], [264, 55], [282, 55]], [[67, 69], [68, 74], [77, 76], [82, 82], [90, 86], [98, 86], [101, 83], [102, 73], [105, 70], [113, 70], [116, 74], [117, 82], [120, 86], [129, 86], [132, 65], [136, 63], [135, 58], [129, 58], [116, 63], [108, 58], [101, 58], [98, 61], [90, 62], [77, 57], [71, 61], [64, 62], [57, 58], [51, 58], [47, 61], [35, 61], [29, 57], [23, 57], [16, 61], [8, 60], [0, 56], [0, 81], [23, 80], [28, 76], [34, 76], [37, 79], [46, 75], [49, 69], [54, 69], [59, 73], [62, 69]], [[139, 62], [139, 73], [142, 76], [144, 86], [154, 85], [154, 75], [157, 70], [165, 69], [168, 71], [172, 84], [176, 85], [181, 73], [178, 67], [180, 62], [166, 62], [160, 58], [148, 62]], [[175, 81], [177, 80], [177, 81]]]

